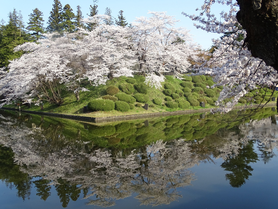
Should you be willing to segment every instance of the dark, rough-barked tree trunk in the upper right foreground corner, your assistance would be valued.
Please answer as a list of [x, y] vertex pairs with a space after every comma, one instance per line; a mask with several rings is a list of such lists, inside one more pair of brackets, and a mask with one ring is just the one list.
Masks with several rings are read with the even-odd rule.
[[246, 29], [245, 42], [252, 56], [278, 71], [278, 0], [237, 0], [237, 3], [240, 9], [237, 21]]

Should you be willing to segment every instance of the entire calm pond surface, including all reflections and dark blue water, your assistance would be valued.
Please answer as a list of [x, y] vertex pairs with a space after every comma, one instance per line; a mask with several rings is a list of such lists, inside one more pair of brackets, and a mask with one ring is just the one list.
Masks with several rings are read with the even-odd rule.
[[1, 208], [277, 208], [277, 112], [232, 119], [93, 124], [0, 110]]

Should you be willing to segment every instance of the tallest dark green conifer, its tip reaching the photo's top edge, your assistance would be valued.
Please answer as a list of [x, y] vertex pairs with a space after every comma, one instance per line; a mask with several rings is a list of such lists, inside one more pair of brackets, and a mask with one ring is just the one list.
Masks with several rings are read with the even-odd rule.
[[62, 17], [62, 5], [59, 0], [54, 0], [54, 4], [50, 16], [48, 17], [47, 30], [49, 32], [63, 33], [63, 17]]

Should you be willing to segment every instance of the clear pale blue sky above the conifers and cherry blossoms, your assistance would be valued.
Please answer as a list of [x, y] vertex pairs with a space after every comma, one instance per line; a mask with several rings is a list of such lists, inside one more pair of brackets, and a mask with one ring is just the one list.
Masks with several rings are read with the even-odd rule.
[[[94, 4], [92, 0], [60, 0], [60, 2], [63, 7], [65, 4], [69, 4], [74, 13], [76, 13], [76, 6], [81, 6], [81, 11], [84, 17], [87, 17], [90, 5]], [[148, 10], [160, 12], [166, 11], [168, 15], [175, 16], [176, 19], [180, 20], [177, 27], [184, 27], [190, 30], [195, 42], [201, 44], [204, 49], [208, 49], [212, 45], [211, 39], [218, 38], [219, 35], [207, 33], [202, 29], [196, 29], [193, 26], [193, 22], [188, 17], [181, 14], [182, 12], [198, 14], [199, 12], [195, 11], [195, 9], [200, 8], [203, 2], [204, 0], [99, 0], [96, 4], [98, 5], [98, 14], [104, 14], [105, 8], [109, 7], [112, 10], [112, 16], [115, 18], [118, 17], [118, 12], [123, 10], [123, 15], [128, 23], [134, 21], [136, 17], [148, 16]], [[17, 11], [21, 10], [23, 21], [26, 26], [29, 19], [28, 15], [32, 13], [33, 9], [38, 8], [43, 12], [43, 19], [45, 20], [44, 23], [46, 27], [50, 11], [52, 10], [52, 4], [53, 0], [3, 0], [1, 1], [0, 7], [0, 20], [4, 19], [7, 22], [8, 13], [15, 8]], [[215, 13], [217, 14], [225, 9], [218, 5], [215, 5], [215, 7], [215, 11], [217, 11]]]

